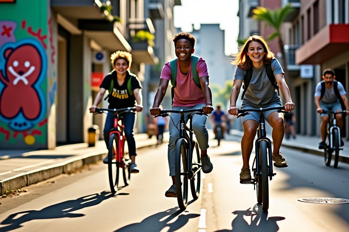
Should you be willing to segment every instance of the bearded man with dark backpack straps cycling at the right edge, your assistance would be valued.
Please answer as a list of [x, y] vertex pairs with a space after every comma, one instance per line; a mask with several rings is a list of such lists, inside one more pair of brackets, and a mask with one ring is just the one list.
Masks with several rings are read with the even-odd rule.
[[[347, 115], [349, 114], [349, 106], [346, 90], [341, 82], [335, 80], [336, 76], [332, 69], [325, 69], [322, 73], [322, 81], [320, 81], [315, 88], [315, 106], [316, 111], [320, 113], [321, 124], [320, 132], [322, 141], [319, 143], [319, 149], [326, 148], [325, 138], [327, 135], [327, 124], [328, 115], [322, 113], [323, 110], [331, 110], [334, 112], [341, 112], [346, 110]], [[343, 116], [342, 114], [336, 115], [337, 126], [340, 130], [343, 127]], [[341, 138], [340, 146], [344, 146], [344, 142]]]

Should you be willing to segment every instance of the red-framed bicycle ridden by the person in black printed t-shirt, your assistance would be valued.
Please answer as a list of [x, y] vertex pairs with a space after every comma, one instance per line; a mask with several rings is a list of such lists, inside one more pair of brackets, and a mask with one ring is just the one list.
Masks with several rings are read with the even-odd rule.
[[114, 114], [114, 128], [109, 133], [108, 143], [108, 176], [109, 185], [112, 193], [118, 191], [120, 169], [125, 186], [129, 185], [131, 177], [131, 159], [126, 159], [124, 156], [125, 134], [124, 125], [121, 121], [120, 114], [135, 113], [136, 108], [122, 108], [122, 109], [107, 109], [96, 108], [96, 114], [104, 111], [112, 112]]

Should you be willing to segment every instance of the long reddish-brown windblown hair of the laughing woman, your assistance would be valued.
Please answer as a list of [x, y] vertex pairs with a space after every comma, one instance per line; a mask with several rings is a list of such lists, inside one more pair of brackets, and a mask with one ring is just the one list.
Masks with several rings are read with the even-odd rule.
[[244, 45], [239, 48], [240, 51], [238, 54], [232, 55], [233, 57], [235, 57], [235, 60], [232, 61], [231, 64], [236, 64], [242, 70], [247, 70], [251, 67], [252, 61], [250, 57], [248, 57], [247, 51], [248, 51], [248, 46], [252, 41], [256, 41], [262, 45], [263, 50], [265, 52], [265, 55], [263, 57], [264, 65], [270, 63], [270, 61], [275, 55], [272, 51], [270, 51], [270, 48], [268, 47], [268, 43], [265, 41], [265, 39], [259, 34], [255, 33], [247, 38]]

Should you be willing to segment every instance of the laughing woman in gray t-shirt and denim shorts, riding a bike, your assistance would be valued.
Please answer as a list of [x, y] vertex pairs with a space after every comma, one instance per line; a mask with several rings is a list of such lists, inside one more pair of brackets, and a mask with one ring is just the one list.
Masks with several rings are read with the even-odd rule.
[[[230, 95], [231, 115], [238, 115], [236, 101], [243, 84], [246, 71], [252, 67], [252, 77], [246, 93], [242, 99], [242, 108], [251, 109], [262, 107], [281, 106], [281, 99], [276, 92], [275, 87], [270, 82], [265, 65], [271, 65], [275, 80], [279, 86], [282, 95], [285, 98], [285, 111], [295, 109], [295, 104], [291, 100], [289, 88], [283, 77], [284, 72], [279, 61], [274, 58], [267, 42], [263, 37], [254, 34], [250, 36], [242, 46], [240, 52], [235, 55], [236, 59], [232, 64], [237, 65], [233, 88]], [[287, 161], [280, 152], [282, 139], [285, 133], [283, 114], [276, 111], [264, 112], [264, 116], [269, 125], [273, 128], [273, 161], [276, 167], [287, 167]], [[241, 152], [243, 157], [243, 167], [240, 173], [241, 181], [251, 180], [250, 156], [253, 149], [253, 140], [258, 128], [258, 112], [251, 112], [242, 118], [244, 135], [241, 139]]]

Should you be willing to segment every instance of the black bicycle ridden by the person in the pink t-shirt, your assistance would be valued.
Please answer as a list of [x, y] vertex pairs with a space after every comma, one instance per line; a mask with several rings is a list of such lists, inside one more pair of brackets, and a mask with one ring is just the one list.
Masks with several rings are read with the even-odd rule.
[[[182, 210], [186, 209], [188, 204], [188, 180], [190, 180], [190, 188], [193, 199], [198, 199], [200, 194], [201, 160], [199, 144], [198, 142], [193, 140], [194, 132], [192, 126], [192, 119], [194, 114], [202, 115], [202, 112], [203, 110], [200, 108], [188, 110], [161, 110], [160, 114], [155, 115], [155, 117], [170, 116], [171, 118], [171, 115], [169, 113], [180, 114], [180, 120], [177, 123], [177, 125], [180, 125], [180, 128], [178, 129], [178, 127], [176, 126], [179, 130], [179, 137], [176, 141], [175, 179], [178, 206]], [[185, 123], [185, 113], [189, 113], [189, 127]]]

